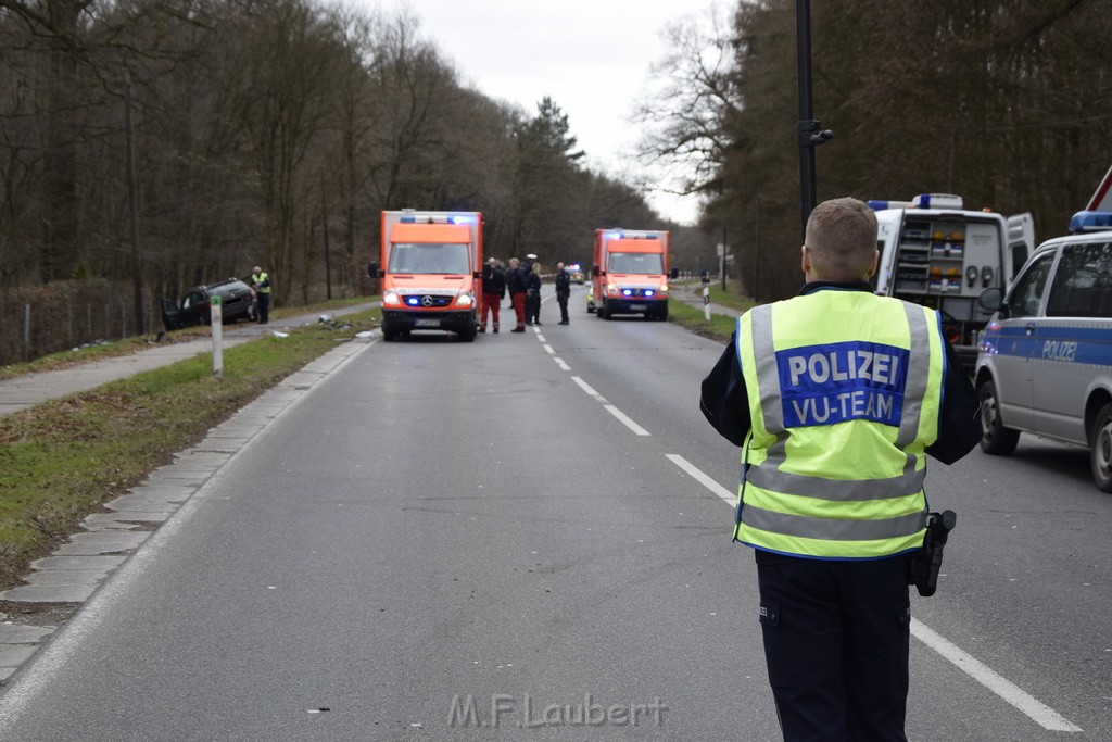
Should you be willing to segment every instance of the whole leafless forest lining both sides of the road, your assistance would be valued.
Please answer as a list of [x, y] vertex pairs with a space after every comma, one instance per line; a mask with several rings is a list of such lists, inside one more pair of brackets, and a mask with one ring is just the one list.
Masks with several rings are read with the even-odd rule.
[[[373, 290], [383, 209], [484, 212], [486, 251], [589, 261], [592, 230], [674, 230], [674, 265], [797, 290], [796, 3], [663, 30], [643, 164], [583, 165], [559, 101], [460, 82], [409, 11], [310, 0], [0, 0], [0, 363], [153, 332], [158, 300], [261, 265], [275, 300]], [[952, 192], [1065, 231], [1112, 165], [1104, 0], [812, 3], [820, 200]], [[701, 197], [695, 227], [645, 188]]]

